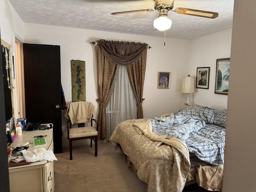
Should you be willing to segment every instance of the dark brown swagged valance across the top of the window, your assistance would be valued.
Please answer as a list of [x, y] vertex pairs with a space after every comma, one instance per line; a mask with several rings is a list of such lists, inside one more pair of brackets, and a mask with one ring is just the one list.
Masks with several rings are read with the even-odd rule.
[[148, 46], [146, 43], [98, 40], [103, 53], [115, 64], [130, 65], [141, 56]]

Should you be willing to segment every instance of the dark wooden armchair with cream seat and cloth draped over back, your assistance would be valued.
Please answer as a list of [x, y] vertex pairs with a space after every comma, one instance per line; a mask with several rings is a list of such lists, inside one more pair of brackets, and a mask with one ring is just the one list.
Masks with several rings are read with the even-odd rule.
[[[75, 105], [77, 105], [77, 102], [73, 102], [73, 103], [75, 103]], [[88, 103], [90, 103], [90, 105], [87, 105]], [[72, 103], [70, 103], [70, 104], [72, 104]], [[70, 108], [70, 104], [68, 106], [68, 109]], [[85, 104], [85, 102], [81, 102], [80, 104]], [[91, 110], [84, 110], [84, 108], [83, 108], [84, 111], [87, 111], [87, 112], [94, 111], [95, 112], [94, 105], [91, 102], [86, 102], [86, 106], [93, 107], [93, 110], [92, 109]], [[81, 109], [75, 109], [74, 111], [76, 111], [76, 112], [80, 111], [81, 112]], [[67, 115], [68, 115], [68, 110], [67, 110], [67, 113], [65, 114], [65, 116], [67, 117]], [[81, 114], [79, 114], [79, 116], [81, 116]], [[67, 121], [70, 160], [73, 159], [73, 157], [72, 157], [72, 141], [81, 140], [81, 139], [91, 139], [90, 147], [92, 147], [92, 140], [94, 140], [94, 143], [95, 143], [95, 153], [94, 153], [94, 155], [97, 156], [98, 121], [96, 119], [93, 119], [93, 113], [91, 114], [90, 117], [91, 118], [78, 120], [78, 122], [73, 122], [73, 123], [72, 123], [72, 120]], [[84, 122], [82, 122], [82, 121], [84, 121]], [[77, 124], [77, 127], [74, 127], [74, 125], [76, 125], [76, 124]], [[72, 126], [73, 126], [73, 128], [72, 128]]]

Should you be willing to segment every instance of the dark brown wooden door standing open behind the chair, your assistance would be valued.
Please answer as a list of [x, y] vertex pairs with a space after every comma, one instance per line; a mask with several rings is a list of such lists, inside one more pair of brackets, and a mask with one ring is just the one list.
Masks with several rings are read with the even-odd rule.
[[27, 122], [53, 123], [54, 153], [62, 153], [60, 46], [23, 44]]

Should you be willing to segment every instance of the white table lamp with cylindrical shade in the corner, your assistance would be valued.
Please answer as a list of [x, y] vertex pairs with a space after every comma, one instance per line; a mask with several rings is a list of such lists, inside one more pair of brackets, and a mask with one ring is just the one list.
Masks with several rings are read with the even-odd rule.
[[187, 77], [182, 77], [181, 92], [187, 94], [187, 101], [186, 103], [184, 103], [187, 109], [191, 105], [191, 103], [189, 102], [189, 94], [195, 92], [195, 79], [195, 77], [190, 77], [190, 75], [188, 75]]

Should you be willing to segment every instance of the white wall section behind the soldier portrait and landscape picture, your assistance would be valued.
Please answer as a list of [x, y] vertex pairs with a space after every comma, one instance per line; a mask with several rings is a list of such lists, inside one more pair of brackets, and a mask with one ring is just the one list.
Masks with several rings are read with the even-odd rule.
[[222, 110], [227, 108], [228, 95], [214, 94], [216, 59], [230, 58], [232, 29], [191, 40], [189, 71], [196, 76], [197, 67], [210, 67], [209, 89], [197, 88], [194, 102]]

